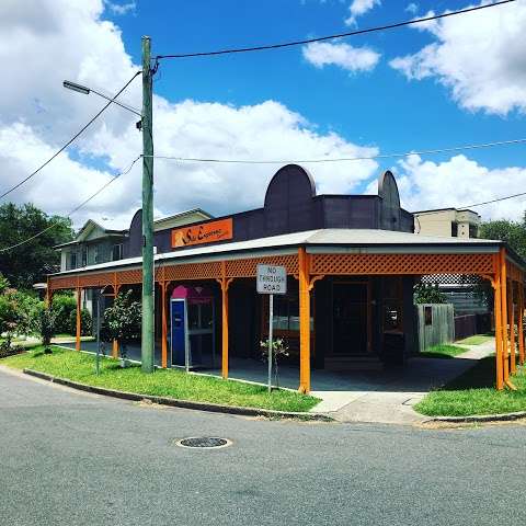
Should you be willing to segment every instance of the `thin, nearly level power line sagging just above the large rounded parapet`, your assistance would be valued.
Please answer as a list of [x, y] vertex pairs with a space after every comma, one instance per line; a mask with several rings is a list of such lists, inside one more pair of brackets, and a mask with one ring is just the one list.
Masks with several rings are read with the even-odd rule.
[[426, 156], [436, 153], [447, 153], [451, 151], [461, 150], [476, 150], [482, 148], [493, 148], [496, 146], [521, 145], [526, 142], [526, 138], [511, 139], [511, 140], [498, 140], [493, 142], [482, 142], [474, 145], [454, 146], [450, 148], [435, 148], [428, 150], [407, 151], [403, 153], [379, 153], [377, 156], [361, 156], [361, 157], [340, 157], [328, 159], [301, 159], [301, 160], [251, 160], [251, 159], [214, 159], [214, 158], [198, 158], [198, 157], [171, 157], [171, 156], [145, 156], [152, 157], [153, 159], [174, 160], [181, 162], [210, 162], [210, 163], [231, 163], [231, 164], [307, 164], [307, 163], [321, 163], [321, 162], [345, 162], [345, 161], [365, 161], [374, 159], [391, 159], [403, 158], [410, 156]]

